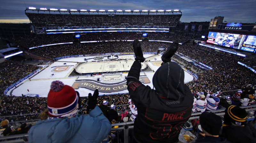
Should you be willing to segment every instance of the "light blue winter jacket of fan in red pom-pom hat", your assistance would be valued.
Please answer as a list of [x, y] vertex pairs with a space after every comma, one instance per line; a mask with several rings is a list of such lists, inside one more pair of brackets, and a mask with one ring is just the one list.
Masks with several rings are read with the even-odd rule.
[[30, 143], [100, 143], [111, 124], [98, 106], [89, 115], [39, 120], [29, 130]]

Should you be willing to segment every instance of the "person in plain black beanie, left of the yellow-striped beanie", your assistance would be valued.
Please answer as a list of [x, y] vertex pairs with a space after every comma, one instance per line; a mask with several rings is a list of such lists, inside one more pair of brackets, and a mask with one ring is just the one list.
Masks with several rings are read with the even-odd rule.
[[196, 143], [230, 143], [227, 139], [219, 137], [221, 130], [221, 117], [213, 112], [203, 112], [199, 117], [199, 122], [204, 138], [196, 139]]

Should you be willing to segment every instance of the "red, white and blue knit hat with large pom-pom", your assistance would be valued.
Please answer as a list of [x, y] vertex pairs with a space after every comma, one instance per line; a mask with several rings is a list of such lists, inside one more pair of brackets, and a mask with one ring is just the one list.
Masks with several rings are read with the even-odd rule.
[[65, 115], [75, 110], [77, 103], [78, 96], [76, 95], [76, 91], [73, 87], [64, 85], [59, 80], [52, 82], [47, 99], [49, 115], [52, 117]]

